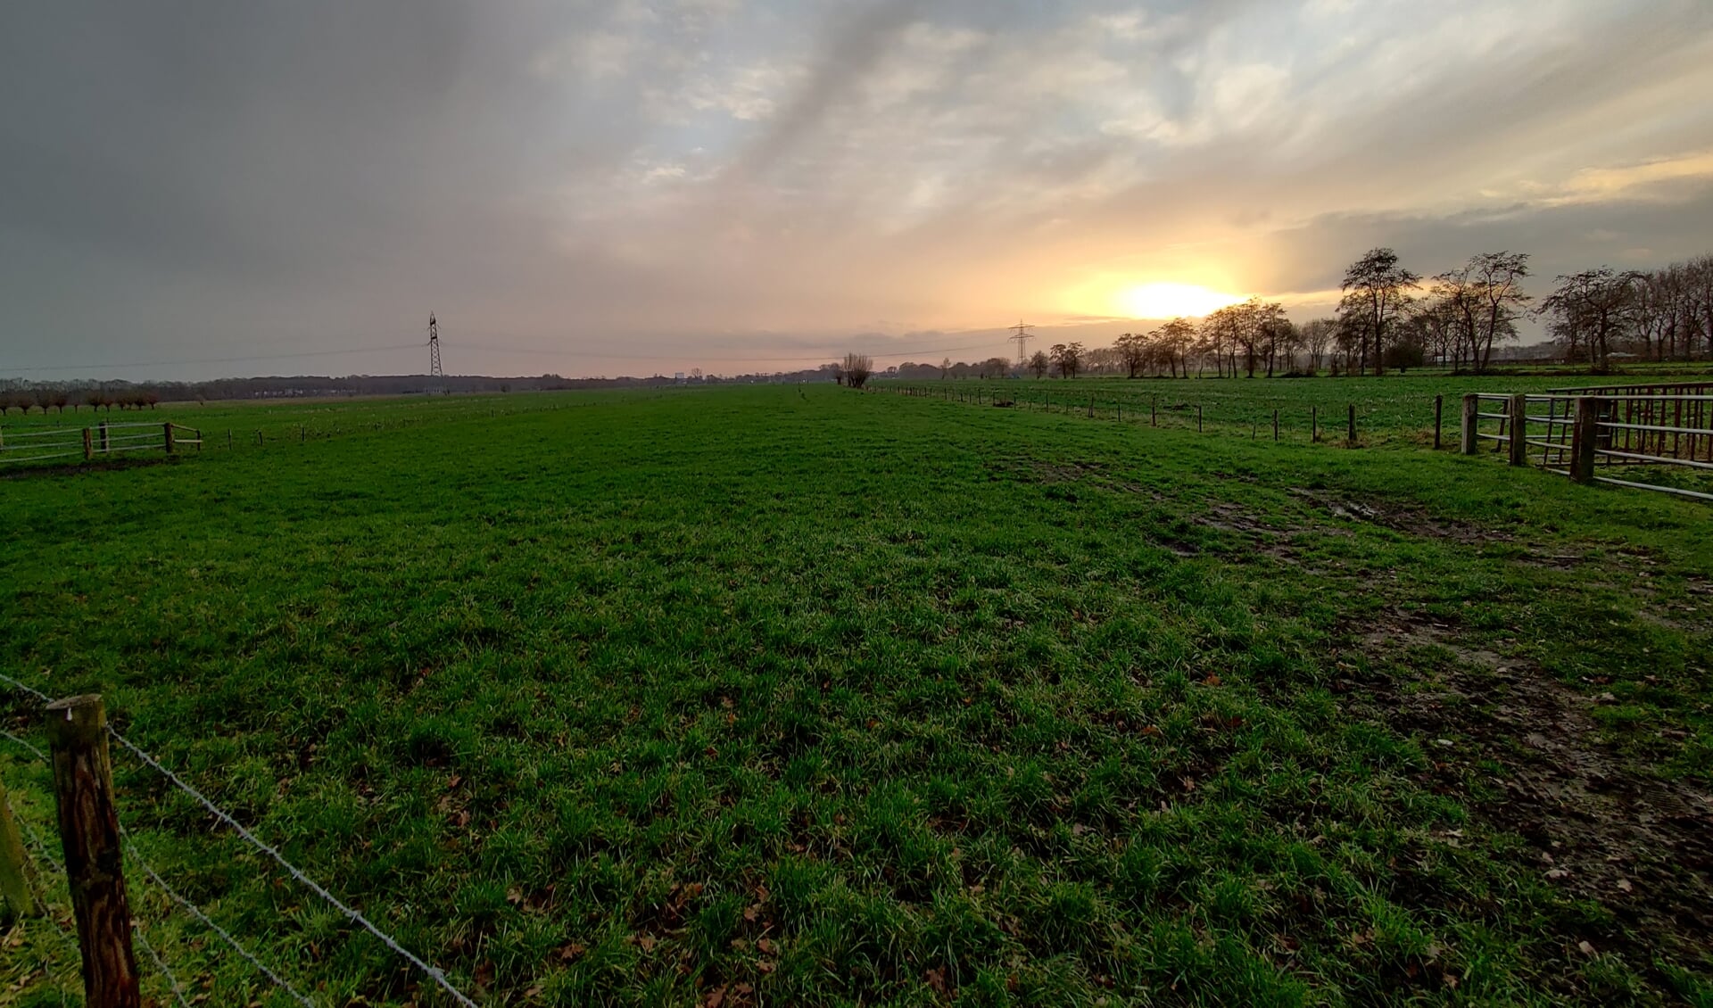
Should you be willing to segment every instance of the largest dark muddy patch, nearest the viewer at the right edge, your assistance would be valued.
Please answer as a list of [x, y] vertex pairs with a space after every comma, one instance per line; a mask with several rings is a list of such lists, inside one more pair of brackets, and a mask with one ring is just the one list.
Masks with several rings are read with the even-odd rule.
[[[1424, 738], [1437, 789], [1487, 779], [1489, 796], [1470, 798], [1471, 811], [1530, 844], [1526, 868], [1600, 902], [1617, 922], [1569, 938], [1620, 952], [1639, 970], [1660, 953], [1682, 962], [1713, 952], [1713, 794], [1660, 780], [1603, 744], [1590, 715], [1600, 697], [1465, 645], [1451, 626], [1400, 618], [1362, 638], [1376, 657], [1424, 643], [1449, 649], [1459, 667], [1437, 674], [1432, 690], [1364, 683], [1362, 707]], [[1504, 772], [1490, 775], [1487, 760]]]

